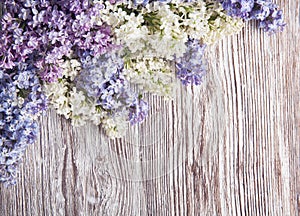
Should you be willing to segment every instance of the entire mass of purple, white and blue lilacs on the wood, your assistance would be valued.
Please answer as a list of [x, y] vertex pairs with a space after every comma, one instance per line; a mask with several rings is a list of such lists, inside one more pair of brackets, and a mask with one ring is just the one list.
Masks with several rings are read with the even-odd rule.
[[0, 182], [14, 184], [49, 107], [72, 125], [122, 137], [149, 110], [146, 92], [172, 98], [199, 85], [204, 51], [259, 20], [284, 27], [268, 0], [5, 0], [0, 3]]

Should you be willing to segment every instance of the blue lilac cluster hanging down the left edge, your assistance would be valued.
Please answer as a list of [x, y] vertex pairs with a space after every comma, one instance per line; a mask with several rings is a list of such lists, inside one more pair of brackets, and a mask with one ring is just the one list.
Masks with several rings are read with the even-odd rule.
[[18, 164], [38, 133], [36, 117], [46, 108], [36, 68], [0, 70], [0, 182], [16, 183]]

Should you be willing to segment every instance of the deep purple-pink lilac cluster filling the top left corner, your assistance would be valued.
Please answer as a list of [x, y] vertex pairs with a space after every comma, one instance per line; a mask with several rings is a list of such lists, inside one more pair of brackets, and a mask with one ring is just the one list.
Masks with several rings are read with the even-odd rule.
[[112, 48], [101, 5], [89, 0], [11, 0], [4, 3], [0, 30], [0, 67], [11, 69], [34, 58], [43, 80], [61, 76], [60, 61], [90, 51], [97, 56]]

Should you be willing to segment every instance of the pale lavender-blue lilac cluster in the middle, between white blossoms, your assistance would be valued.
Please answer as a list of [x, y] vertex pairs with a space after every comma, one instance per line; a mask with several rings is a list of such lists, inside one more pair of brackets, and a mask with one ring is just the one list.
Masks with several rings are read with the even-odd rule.
[[83, 69], [75, 79], [76, 87], [86, 92], [96, 104], [111, 115], [130, 110], [130, 122], [141, 122], [148, 109], [147, 104], [130, 90], [123, 76], [123, 61], [115, 54], [98, 58], [87, 55], [81, 59]]

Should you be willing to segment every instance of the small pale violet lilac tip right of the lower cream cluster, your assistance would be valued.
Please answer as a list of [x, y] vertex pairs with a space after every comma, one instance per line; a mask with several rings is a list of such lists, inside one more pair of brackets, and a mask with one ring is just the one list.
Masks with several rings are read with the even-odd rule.
[[206, 65], [203, 60], [205, 48], [206, 45], [201, 44], [198, 40], [187, 42], [186, 53], [176, 60], [176, 73], [182, 84], [201, 84], [202, 77], [206, 73]]

